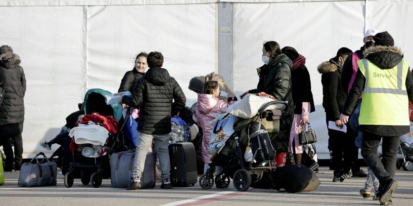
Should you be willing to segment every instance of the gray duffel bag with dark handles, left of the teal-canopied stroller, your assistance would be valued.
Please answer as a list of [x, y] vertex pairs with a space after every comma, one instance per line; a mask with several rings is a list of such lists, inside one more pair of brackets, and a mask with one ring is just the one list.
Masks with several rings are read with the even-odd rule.
[[[43, 160], [38, 157], [42, 155]], [[49, 161], [43, 152], [37, 154], [30, 163], [24, 163], [20, 168], [19, 187], [41, 187], [56, 185], [57, 165]]]

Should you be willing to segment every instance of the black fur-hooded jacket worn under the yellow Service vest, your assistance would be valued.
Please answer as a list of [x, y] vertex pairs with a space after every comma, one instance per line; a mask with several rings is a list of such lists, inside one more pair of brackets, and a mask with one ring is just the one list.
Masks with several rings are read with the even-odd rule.
[[[371, 63], [381, 69], [391, 69], [402, 61], [403, 53], [397, 47], [373, 46], [366, 49], [364, 58], [367, 58]], [[364, 90], [365, 83], [366, 78], [360, 70], [357, 71], [353, 87], [350, 89], [349, 96], [344, 104], [344, 115], [350, 116], [353, 113], [359, 96]], [[406, 89], [409, 100], [413, 102], [413, 76], [410, 69], [406, 76]], [[389, 106], [391, 107], [392, 105]], [[400, 136], [410, 131], [410, 126], [360, 125], [359, 128], [361, 131], [381, 136]]]

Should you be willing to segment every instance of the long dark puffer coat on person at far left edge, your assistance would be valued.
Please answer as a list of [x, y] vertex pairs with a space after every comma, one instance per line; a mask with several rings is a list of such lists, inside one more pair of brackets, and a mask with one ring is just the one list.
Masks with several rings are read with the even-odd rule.
[[0, 87], [5, 90], [0, 105], [0, 132], [19, 134], [23, 130], [26, 77], [19, 66], [20, 57], [14, 53], [0, 56]]

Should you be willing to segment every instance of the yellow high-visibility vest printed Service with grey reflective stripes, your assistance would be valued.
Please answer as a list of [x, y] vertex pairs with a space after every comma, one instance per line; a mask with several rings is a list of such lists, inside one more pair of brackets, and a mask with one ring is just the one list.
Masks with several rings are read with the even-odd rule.
[[367, 59], [357, 61], [366, 78], [360, 109], [360, 125], [410, 125], [406, 76], [409, 62], [380, 69]]

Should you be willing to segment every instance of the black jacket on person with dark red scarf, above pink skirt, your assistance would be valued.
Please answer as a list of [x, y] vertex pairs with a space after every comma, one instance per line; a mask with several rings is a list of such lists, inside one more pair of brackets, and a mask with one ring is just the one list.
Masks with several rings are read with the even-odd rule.
[[291, 71], [291, 84], [294, 114], [301, 115], [303, 102], [310, 102], [310, 113], [316, 111], [313, 93], [311, 92], [310, 73], [308, 73], [305, 65]]

